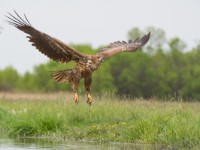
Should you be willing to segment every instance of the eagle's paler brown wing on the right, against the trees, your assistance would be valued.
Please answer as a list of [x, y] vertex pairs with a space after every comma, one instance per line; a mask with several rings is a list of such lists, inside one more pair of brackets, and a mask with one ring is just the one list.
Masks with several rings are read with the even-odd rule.
[[148, 34], [144, 35], [141, 38], [137, 38], [134, 41], [129, 40], [128, 43], [125, 41], [110, 43], [106, 48], [102, 48], [102, 51], [99, 52], [98, 55], [106, 59], [119, 52], [134, 52], [148, 42], [150, 34], [151, 33], [149, 32]]

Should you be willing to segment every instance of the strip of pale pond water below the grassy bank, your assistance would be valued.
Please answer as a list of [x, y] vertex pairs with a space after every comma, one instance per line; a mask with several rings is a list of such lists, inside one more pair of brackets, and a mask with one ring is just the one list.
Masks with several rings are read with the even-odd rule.
[[[158, 147], [157, 147], [158, 148]], [[156, 149], [157, 149], [156, 148]], [[160, 147], [161, 148], [161, 147]], [[155, 149], [152, 145], [127, 143], [96, 143], [78, 141], [53, 141], [33, 139], [0, 139], [0, 150], [132, 150]]]

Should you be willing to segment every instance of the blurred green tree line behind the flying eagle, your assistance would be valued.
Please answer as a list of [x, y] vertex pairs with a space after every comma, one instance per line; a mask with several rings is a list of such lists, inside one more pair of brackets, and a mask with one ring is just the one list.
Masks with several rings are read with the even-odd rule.
[[[106, 60], [93, 74], [92, 92], [114, 93], [126, 97], [200, 100], [200, 45], [190, 50], [178, 37], [167, 39], [162, 29], [133, 28], [128, 39], [151, 31], [148, 45], [134, 53], [121, 53]], [[82, 53], [94, 54], [90, 45], [72, 45]], [[56, 83], [50, 71], [72, 68], [75, 64], [48, 61], [20, 75], [7, 67], [0, 70], [0, 91], [71, 91], [68, 83]], [[83, 89], [83, 83], [79, 85]]]

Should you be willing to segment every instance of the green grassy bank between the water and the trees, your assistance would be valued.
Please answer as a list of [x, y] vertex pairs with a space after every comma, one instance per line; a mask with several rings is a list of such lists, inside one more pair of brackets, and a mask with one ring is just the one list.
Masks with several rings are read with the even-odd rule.
[[62, 137], [187, 148], [200, 145], [200, 103], [105, 97], [96, 98], [89, 107], [85, 97], [78, 105], [71, 98], [1, 97], [1, 132], [14, 137]]

